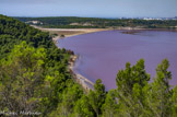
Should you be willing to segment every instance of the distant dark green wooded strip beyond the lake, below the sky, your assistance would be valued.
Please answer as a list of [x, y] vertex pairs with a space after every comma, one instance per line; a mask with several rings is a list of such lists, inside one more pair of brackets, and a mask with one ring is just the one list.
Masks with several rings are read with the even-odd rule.
[[137, 19], [96, 19], [96, 17], [15, 17], [22, 22], [39, 21], [36, 25], [44, 27], [59, 27], [59, 28], [99, 28], [99, 27], [149, 27], [149, 28], [166, 28], [177, 26], [177, 20], [137, 20]]

